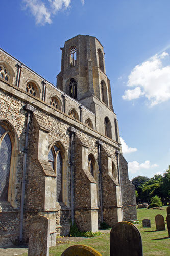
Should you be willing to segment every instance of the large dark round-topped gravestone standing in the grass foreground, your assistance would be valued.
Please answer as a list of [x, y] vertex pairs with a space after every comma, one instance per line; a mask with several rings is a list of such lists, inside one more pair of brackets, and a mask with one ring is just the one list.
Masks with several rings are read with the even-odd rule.
[[110, 232], [110, 256], [142, 256], [139, 230], [128, 221], [118, 222]]

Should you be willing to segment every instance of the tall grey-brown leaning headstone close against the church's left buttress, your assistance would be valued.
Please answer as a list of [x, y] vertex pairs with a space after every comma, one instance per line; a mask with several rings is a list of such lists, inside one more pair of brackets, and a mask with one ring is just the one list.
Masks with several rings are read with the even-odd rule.
[[29, 230], [28, 256], [48, 256], [50, 220], [42, 215], [32, 218]]

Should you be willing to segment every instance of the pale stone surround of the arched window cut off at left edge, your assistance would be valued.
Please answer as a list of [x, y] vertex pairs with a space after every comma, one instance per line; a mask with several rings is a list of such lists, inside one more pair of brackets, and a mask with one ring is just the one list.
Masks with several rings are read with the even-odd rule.
[[[11, 156], [8, 160], [8, 176], [6, 176], [6, 188], [7, 196], [5, 200], [8, 201], [12, 207], [16, 208], [16, 179], [17, 179], [17, 164], [18, 164], [18, 151], [19, 151], [19, 137], [14, 126], [6, 119], [0, 120], [0, 127], [2, 128], [2, 136], [0, 138], [0, 148], [3, 145], [3, 140], [10, 140], [11, 143]], [[7, 148], [6, 148], [7, 150]], [[1, 151], [1, 157], [3, 157], [3, 148]], [[3, 165], [3, 164], [1, 164]], [[2, 166], [1, 166], [2, 167]], [[8, 180], [7, 180], [8, 179]]]

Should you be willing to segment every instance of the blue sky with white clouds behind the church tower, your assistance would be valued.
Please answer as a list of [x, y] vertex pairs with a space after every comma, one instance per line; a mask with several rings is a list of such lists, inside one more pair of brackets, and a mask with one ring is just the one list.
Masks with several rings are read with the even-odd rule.
[[170, 164], [169, 0], [6, 0], [1, 45], [56, 84], [64, 41], [91, 35], [104, 46], [129, 178]]

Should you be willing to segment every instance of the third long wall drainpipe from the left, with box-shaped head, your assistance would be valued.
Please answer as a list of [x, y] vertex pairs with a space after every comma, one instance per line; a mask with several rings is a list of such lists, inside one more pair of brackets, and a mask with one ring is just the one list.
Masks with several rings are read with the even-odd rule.
[[100, 183], [100, 203], [101, 203], [101, 223], [103, 223], [103, 198], [102, 198], [102, 168], [101, 168], [101, 145], [102, 141], [98, 140], [98, 156], [99, 156], [99, 183]]

